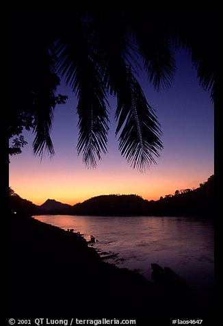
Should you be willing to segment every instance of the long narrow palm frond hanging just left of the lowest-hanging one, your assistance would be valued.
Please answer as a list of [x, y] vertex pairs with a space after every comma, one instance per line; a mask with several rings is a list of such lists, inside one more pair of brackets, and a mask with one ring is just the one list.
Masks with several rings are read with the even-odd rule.
[[107, 151], [107, 93], [99, 60], [95, 58], [95, 40], [90, 20], [79, 16], [75, 24], [78, 27], [75, 29], [76, 37], [66, 34], [55, 45], [55, 67], [78, 99], [78, 155], [82, 152], [83, 162], [94, 168], [96, 161], [101, 159], [101, 153]]

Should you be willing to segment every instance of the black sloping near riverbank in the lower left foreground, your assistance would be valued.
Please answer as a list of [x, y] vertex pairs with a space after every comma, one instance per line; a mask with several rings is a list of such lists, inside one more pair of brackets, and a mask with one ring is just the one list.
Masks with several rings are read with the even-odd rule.
[[9, 248], [10, 316], [195, 318], [188, 297], [103, 262], [79, 234], [12, 216]]

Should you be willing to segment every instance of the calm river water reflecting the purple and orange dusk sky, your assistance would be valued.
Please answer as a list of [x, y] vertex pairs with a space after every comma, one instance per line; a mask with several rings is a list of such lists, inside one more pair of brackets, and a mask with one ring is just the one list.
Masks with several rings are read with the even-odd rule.
[[96, 250], [119, 253], [108, 261], [151, 278], [151, 263], [169, 266], [198, 299], [213, 298], [213, 224], [196, 218], [41, 215], [38, 220], [93, 235]]

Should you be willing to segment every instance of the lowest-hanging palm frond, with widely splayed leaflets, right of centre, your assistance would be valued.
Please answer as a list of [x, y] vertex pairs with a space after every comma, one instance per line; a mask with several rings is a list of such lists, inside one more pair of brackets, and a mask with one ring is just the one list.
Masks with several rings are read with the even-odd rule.
[[[107, 16], [95, 17], [98, 51], [94, 51], [93, 57], [95, 62], [100, 62], [97, 68], [107, 91], [118, 99], [116, 135], [122, 129], [118, 138], [120, 152], [134, 168], [144, 171], [152, 162], [155, 163], [154, 157], [159, 156], [161, 131], [153, 109], [133, 76], [140, 65], [137, 62], [139, 51], [131, 38], [131, 31], [129, 27], [124, 29], [120, 21], [120, 25], [114, 27], [105, 18]], [[114, 21], [112, 17], [110, 20]], [[102, 23], [103, 28], [99, 28]]]

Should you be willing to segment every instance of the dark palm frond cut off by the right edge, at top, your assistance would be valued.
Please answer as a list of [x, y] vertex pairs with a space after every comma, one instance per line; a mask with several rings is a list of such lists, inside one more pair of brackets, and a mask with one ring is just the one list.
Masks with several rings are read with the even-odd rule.
[[179, 10], [172, 18], [172, 38], [176, 47], [186, 49], [191, 55], [200, 86], [214, 100], [213, 10]]

